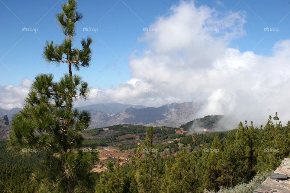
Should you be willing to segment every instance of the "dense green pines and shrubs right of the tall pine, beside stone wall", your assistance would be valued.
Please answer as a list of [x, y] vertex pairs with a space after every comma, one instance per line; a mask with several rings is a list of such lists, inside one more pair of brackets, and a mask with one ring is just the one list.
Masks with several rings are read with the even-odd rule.
[[[269, 176], [267, 169], [276, 169], [281, 160], [289, 155], [289, 131], [290, 122], [282, 127], [268, 120], [263, 129], [254, 128], [252, 123], [247, 125], [246, 122], [245, 125], [240, 123], [238, 129], [231, 131], [193, 134], [168, 144], [151, 144], [154, 130], [148, 129], [145, 142], [137, 147], [135, 157], [131, 158], [130, 165], [127, 166], [131, 170], [120, 167], [114, 173], [116, 176], [130, 173], [128, 175], [131, 181], [126, 183], [132, 189], [137, 188], [138, 192], [250, 193]], [[188, 151], [180, 147], [180, 144], [185, 147], [189, 144], [194, 149], [192, 152]], [[169, 148], [169, 155], [173, 152], [177, 154], [160, 157], [159, 152], [165, 147]], [[280, 151], [265, 151], [265, 147], [279, 147]], [[143, 150], [149, 148], [160, 151], [144, 153]], [[262, 159], [263, 157], [275, 162]], [[115, 180], [111, 178], [113, 182], [109, 183], [119, 182], [122, 185], [118, 180], [123, 179], [124, 174]], [[108, 182], [102, 183], [106, 186]], [[122, 192], [113, 186], [107, 192]], [[97, 189], [96, 192], [100, 190]]]

